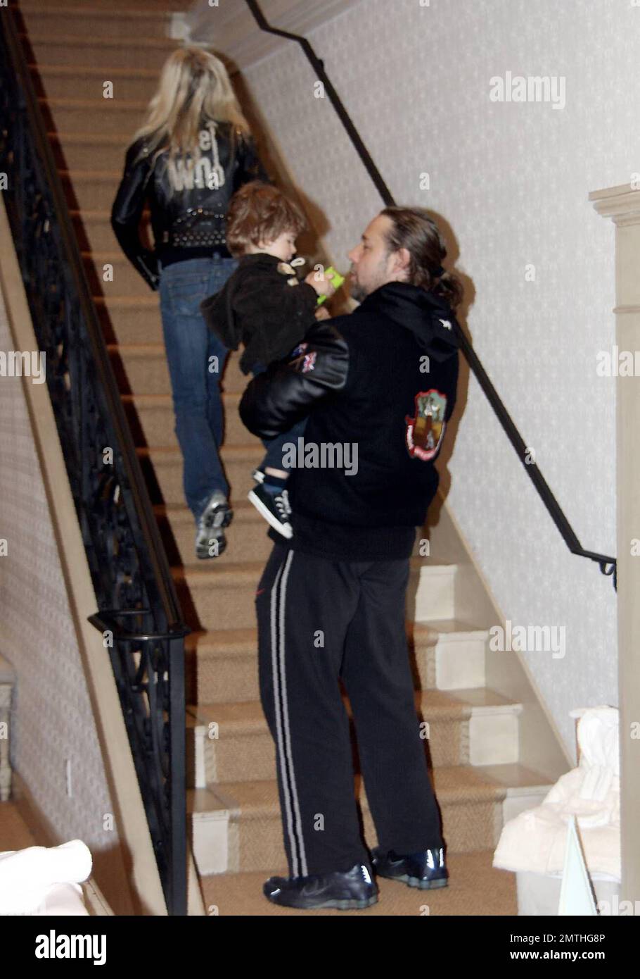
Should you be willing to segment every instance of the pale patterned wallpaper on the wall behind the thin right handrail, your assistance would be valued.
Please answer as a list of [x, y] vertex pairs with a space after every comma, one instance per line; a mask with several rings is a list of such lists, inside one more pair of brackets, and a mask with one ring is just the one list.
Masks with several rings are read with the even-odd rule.
[[[476, 350], [582, 545], [615, 554], [615, 381], [595, 369], [615, 342], [614, 226], [587, 195], [640, 171], [640, 7], [361, 0], [310, 38], [395, 199], [448, 232]], [[516, 76], [546, 77], [547, 101], [491, 101]], [[311, 66], [292, 42], [245, 77], [347, 268], [381, 203]], [[575, 757], [569, 711], [618, 703], [615, 592], [467, 387], [448, 500], [505, 617], [566, 629], [564, 657], [525, 655]]]

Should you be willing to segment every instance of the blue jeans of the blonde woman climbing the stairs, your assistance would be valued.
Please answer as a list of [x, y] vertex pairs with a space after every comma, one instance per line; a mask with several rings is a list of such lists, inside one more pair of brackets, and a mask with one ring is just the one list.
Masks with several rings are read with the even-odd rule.
[[224, 433], [220, 380], [229, 350], [207, 329], [200, 303], [222, 289], [236, 266], [236, 258], [189, 258], [160, 273], [174, 431], [183, 455], [185, 496], [196, 520], [216, 489], [229, 495], [218, 452]]

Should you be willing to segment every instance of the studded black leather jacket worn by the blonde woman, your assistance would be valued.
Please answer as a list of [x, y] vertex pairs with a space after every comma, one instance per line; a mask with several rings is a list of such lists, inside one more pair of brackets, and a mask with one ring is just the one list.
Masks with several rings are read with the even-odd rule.
[[[232, 123], [204, 122], [199, 145], [201, 159], [189, 170], [180, 160], [169, 163], [167, 152], [151, 165], [144, 139], [127, 150], [111, 227], [122, 251], [153, 290], [160, 281], [158, 259], [169, 264], [214, 251], [229, 256], [225, 218], [235, 191], [250, 180], [270, 182], [253, 137], [244, 136]], [[139, 234], [145, 204], [151, 213], [153, 251]]]

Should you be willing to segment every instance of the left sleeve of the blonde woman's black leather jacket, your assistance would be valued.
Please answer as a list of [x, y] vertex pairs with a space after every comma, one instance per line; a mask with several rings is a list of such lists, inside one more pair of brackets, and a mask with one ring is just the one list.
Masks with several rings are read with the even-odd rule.
[[145, 208], [147, 184], [150, 178], [149, 161], [146, 157], [136, 163], [141, 143], [134, 143], [127, 150], [124, 175], [120, 181], [111, 208], [111, 227], [118, 244], [152, 290], [159, 287], [160, 277], [157, 258], [140, 240], [140, 219]]

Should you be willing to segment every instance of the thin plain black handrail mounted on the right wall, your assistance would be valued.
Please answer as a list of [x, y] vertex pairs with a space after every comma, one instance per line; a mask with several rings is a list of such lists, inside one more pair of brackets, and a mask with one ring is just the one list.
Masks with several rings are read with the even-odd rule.
[[[352, 118], [349, 116], [340, 96], [338, 95], [335, 88], [331, 84], [331, 81], [326, 71], [324, 70], [323, 62], [314, 51], [308, 39], [306, 37], [303, 37], [301, 34], [295, 34], [288, 30], [282, 30], [280, 27], [272, 26], [267, 21], [265, 15], [263, 14], [260, 8], [260, 4], [258, 3], [258, 0], [246, 0], [246, 4], [261, 30], [264, 30], [270, 34], [277, 34], [277, 36], [279, 37], [285, 37], [287, 40], [296, 41], [298, 44], [300, 44], [309, 62], [311, 63], [312, 67], [314, 68], [315, 71], [317, 71], [318, 77], [322, 82], [322, 85], [324, 86], [324, 91], [328, 95], [331, 105], [333, 106], [337, 116], [339, 117], [344, 128], [346, 129], [347, 134], [354, 145], [356, 153], [358, 154], [358, 156], [363, 162], [366, 172], [368, 173], [369, 177], [375, 184], [375, 187], [378, 193], [380, 194], [380, 197], [384, 201], [385, 207], [395, 206], [396, 202], [394, 200], [391, 191], [389, 190], [386, 183], [384, 182], [382, 175], [380, 174], [380, 171], [378, 170], [377, 166], [375, 165], [375, 163], [373, 163], [371, 155], [366, 149], [358, 129], [354, 125]], [[556, 499], [553, 492], [551, 491], [548, 483], [542, 476], [542, 473], [540, 472], [537, 464], [533, 460], [530, 461], [529, 455], [531, 453], [530, 450], [528, 449], [527, 444], [525, 443], [524, 439], [522, 438], [518, 429], [516, 428], [516, 425], [513, 419], [511, 418], [511, 415], [507, 411], [504, 402], [502, 401], [502, 399], [496, 392], [495, 388], [493, 387], [489, 375], [487, 374], [487, 371], [485, 370], [480, 360], [480, 357], [473, 349], [471, 341], [466, 336], [466, 334], [460, 329], [459, 325], [457, 325], [456, 334], [460, 342], [460, 349], [464, 353], [464, 356], [467, 360], [467, 363], [469, 364], [469, 367], [475, 374], [478, 384], [485, 392], [485, 395], [487, 396], [487, 399], [491, 404], [491, 408], [495, 412], [497, 420], [502, 426], [507, 436], [507, 439], [515, 448], [518, 458], [520, 459], [523, 466], [525, 467], [527, 475], [531, 479], [538, 496], [542, 500], [551, 519], [553, 520], [554, 524], [558, 528], [558, 531], [562, 535], [563, 540], [569, 547], [572, 554], [576, 554], [578, 557], [586, 557], [589, 558], [589, 560], [591, 561], [595, 561], [599, 565], [600, 571], [602, 572], [603, 575], [613, 576], [614, 587], [616, 588], [617, 587], [616, 558], [608, 557], [606, 554], [599, 554], [596, 551], [588, 551], [582, 547], [581, 543], [579, 542], [576, 536], [576, 532], [574, 531], [573, 527], [569, 523], [569, 520], [567, 519], [562, 507], [558, 503], [558, 500]]]

